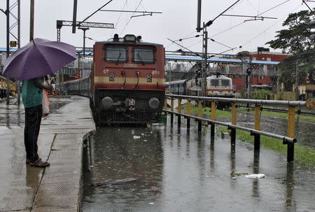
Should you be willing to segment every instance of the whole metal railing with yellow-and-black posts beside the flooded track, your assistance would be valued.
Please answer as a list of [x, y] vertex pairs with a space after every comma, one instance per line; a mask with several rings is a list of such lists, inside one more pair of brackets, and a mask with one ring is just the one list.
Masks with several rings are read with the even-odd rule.
[[[171, 114], [171, 122], [173, 123], [173, 115], [178, 115], [178, 123], [181, 124], [181, 116], [187, 118], [187, 127], [190, 127], [190, 118], [198, 121], [198, 132], [202, 130], [202, 122], [208, 122], [211, 125], [211, 139], [214, 139], [214, 129], [215, 125], [222, 125], [230, 129], [231, 143], [235, 143], [236, 140], [236, 129], [241, 129], [246, 132], [251, 132], [254, 136], [254, 150], [260, 150], [260, 135], [269, 136], [274, 139], [281, 139], [283, 144], [288, 146], [287, 149], [287, 161], [291, 162], [294, 160], [294, 143], [297, 142], [295, 138], [295, 109], [298, 108], [315, 108], [315, 101], [309, 99], [308, 101], [276, 101], [276, 100], [260, 100], [260, 99], [231, 99], [231, 98], [221, 98], [221, 97], [196, 97], [196, 96], [183, 96], [183, 95], [173, 95], [166, 94], [166, 97], [171, 99], [171, 111], [167, 111], [167, 98], [165, 99], [165, 113]], [[174, 99], [178, 100], [178, 112], [174, 112]], [[181, 113], [181, 100], [187, 99], [186, 113]], [[198, 103], [198, 116], [191, 115], [191, 101], [195, 100]], [[202, 101], [211, 102], [211, 113], [209, 114], [209, 119], [202, 118]], [[216, 102], [230, 102], [231, 106], [231, 124], [226, 122], [216, 121]], [[237, 104], [253, 104], [255, 105], [255, 125], [254, 128], [241, 127], [237, 125]], [[288, 106], [288, 135], [283, 136], [279, 134], [273, 134], [270, 132], [265, 132], [260, 129], [260, 113], [262, 111], [262, 106]]]

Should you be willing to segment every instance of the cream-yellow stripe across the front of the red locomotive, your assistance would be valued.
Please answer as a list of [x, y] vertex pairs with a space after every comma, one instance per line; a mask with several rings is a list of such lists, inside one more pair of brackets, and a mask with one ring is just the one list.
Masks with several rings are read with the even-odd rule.
[[[109, 80], [108, 76], [95, 76], [94, 77], [94, 83], [125, 83], [125, 78], [124, 77], [115, 77], [113, 81]], [[126, 78], [126, 83], [127, 84], [137, 84], [138, 83], [138, 78], [131, 78], [127, 77]], [[139, 78], [139, 84], [157, 84], [159, 85], [165, 85], [165, 78], [153, 78], [152, 83], [148, 83], [146, 78]]]

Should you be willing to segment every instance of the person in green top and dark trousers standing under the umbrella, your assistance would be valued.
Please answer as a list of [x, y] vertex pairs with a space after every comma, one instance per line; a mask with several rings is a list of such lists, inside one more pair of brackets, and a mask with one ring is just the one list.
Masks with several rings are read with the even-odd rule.
[[52, 85], [43, 85], [44, 78], [33, 78], [22, 82], [22, 101], [25, 107], [24, 143], [26, 163], [34, 167], [48, 167], [48, 162], [43, 162], [38, 157], [37, 139], [41, 127], [43, 113], [43, 89], [52, 90]]

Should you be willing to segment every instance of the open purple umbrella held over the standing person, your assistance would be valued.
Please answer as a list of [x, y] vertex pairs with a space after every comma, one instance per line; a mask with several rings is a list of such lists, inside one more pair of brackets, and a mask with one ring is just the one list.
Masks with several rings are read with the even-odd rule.
[[10, 55], [3, 76], [27, 80], [55, 73], [76, 59], [76, 48], [67, 43], [35, 38]]

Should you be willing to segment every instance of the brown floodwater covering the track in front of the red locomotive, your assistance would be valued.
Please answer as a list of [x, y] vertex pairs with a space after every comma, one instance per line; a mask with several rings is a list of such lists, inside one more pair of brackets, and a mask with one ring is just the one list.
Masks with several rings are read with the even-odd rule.
[[193, 120], [190, 133], [167, 121], [97, 130], [81, 211], [315, 211], [315, 169], [270, 150], [254, 154], [248, 143], [211, 141], [210, 128], [197, 134]]

